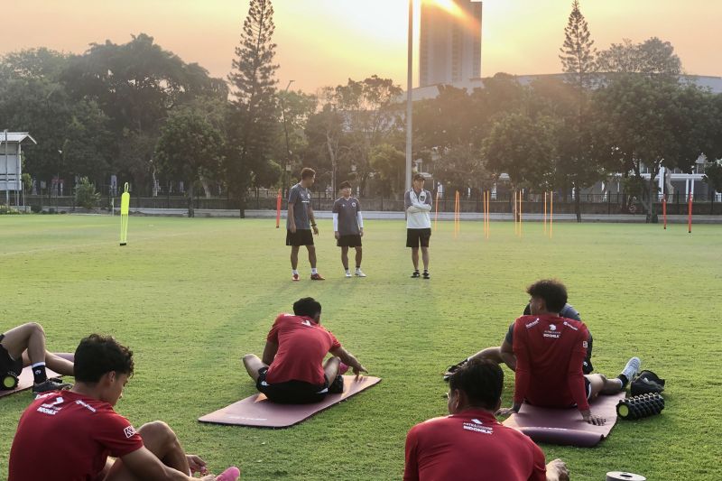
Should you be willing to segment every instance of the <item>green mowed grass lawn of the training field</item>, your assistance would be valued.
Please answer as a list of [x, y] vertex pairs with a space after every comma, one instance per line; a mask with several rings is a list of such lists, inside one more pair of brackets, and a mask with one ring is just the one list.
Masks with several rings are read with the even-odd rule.
[[[319, 272], [291, 282], [285, 231], [273, 220], [0, 217], [0, 331], [45, 327], [49, 348], [73, 351], [92, 332], [134, 350], [135, 375], [116, 410], [136, 427], [162, 419], [185, 448], [243, 479], [400, 479], [407, 430], [446, 412], [444, 367], [498, 345], [527, 301], [557, 277], [594, 334], [594, 365], [616, 375], [630, 356], [667, 379], [667, 407], [619, 421], [596, 449], [542, 445], [575, 480], [628, 470], [648, 479], [718, 480], [722, 433], [722, 227], [562, 224], [554, 238], [526, 223], [440, 223], [430, 282], [410, 279], [402, 221], [366, 221], [366, 279], [345, 279], [329, 220], [319, 222]], [[255, 393], [242, 369], [261, 354], [274, 317], [312, 296], [322, 322], [383, 382], [287, 430], [201, 424]], [[504, 368], [505, 369], [505, 368]], [[504, 403], [514, 375], [504, 370]], [[30, 393], [0, 400], [0, 478]], [[39, 447], [42, 456], [43, 447]], [[478, 469], [483, 469], [479, 466]], [[503, 480], [502, 480], [503, 481]]]

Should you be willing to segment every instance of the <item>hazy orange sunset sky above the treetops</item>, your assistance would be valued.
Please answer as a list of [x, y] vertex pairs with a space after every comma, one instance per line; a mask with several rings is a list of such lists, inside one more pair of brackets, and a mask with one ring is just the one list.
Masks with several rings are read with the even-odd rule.
[[[417, 15], [420, 1], [415, 0]], [[580, 3], [598, 49], [624, 38], [642, 42], [657, 36], [672, 43], [687, 73], [722, 77], [722, 1]], [[482, 76], [560, 71], [570, 5], [571, 0], [486, 0]], [[281, 88], [293, 79], [293, 88], [315, 91], [372, 74], [405, 85], [406, 0], [274, 0], [273, 7]], [[124, 43], [144, 32], [183, 60], [225, 78], [247, 9], [247, 0], [0, 0], [5, 19], [0, 53], [41, 46], [80, 53], [91, 42]]]

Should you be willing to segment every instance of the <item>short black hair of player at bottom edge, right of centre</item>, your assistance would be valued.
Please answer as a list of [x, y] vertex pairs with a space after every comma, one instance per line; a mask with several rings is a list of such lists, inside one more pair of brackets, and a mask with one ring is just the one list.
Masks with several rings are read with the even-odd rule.
[[504, 372], [488, 359], [472, 359], [449, 377], [449, 389], [467, 393], [468, 402], [486, 410], [494, 410], [502, 397]]

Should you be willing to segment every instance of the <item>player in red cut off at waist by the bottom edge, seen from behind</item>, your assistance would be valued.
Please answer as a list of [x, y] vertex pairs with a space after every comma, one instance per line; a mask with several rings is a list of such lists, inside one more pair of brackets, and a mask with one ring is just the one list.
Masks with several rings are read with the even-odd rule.
[[449, 416], [417, 424], [406, 436], [404, 481], [567, 481], [560, 459], [544, 453], [521, 431], [496, 421], [504, 373], [472, 359], [449, 378]]

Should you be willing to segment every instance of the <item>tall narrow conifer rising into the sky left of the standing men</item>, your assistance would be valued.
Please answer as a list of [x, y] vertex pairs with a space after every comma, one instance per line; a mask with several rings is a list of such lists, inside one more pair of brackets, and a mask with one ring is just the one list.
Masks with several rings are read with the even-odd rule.
[[273, 63], [273, 5], [270, 0], [251, 0], [236, 47], [233, 72], [234, 108], [229, 119], [226, 172], [229, 189], [244, 217], [245, 194], [254, 171], [264, 169], [273, 151], [275, 136], [275, 71]]

